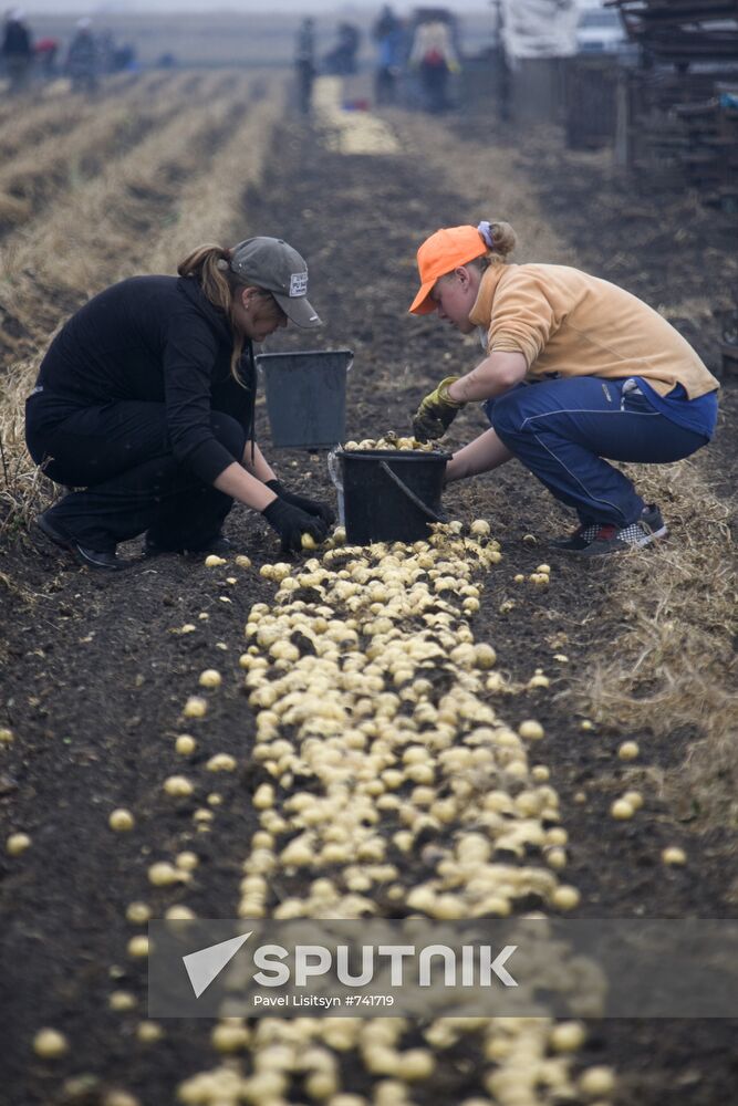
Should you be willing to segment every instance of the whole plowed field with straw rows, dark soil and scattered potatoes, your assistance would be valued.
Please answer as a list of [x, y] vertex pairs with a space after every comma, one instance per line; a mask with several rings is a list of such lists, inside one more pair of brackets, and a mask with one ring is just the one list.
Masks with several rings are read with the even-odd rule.
[[[735, 383], [709, 449], [637, 473], [668, 541], [604, 564], [547, 546], [570, 520], [516, 462], [445, 497], [489, 539], [449, 534], [396, 563], [375, 547], [305, 555], [281, 582], [260, 574], [282, 559], [246, 509], [228, 533], [249, 567], [145, 562], [132, 544], [107, 578], [33, 536], [51, 489], [22, 450], [22, 397], [50, 334], [92, 292], [171, 272], [200, 241], [276, 234], [306, 257], [320, 345], [355, 352], [353, 438], [404, 431], [430, 385], [476, 363], [476, 340], [406, 309], [419, 241], [480, 218], [516, 227], [519, 260], [623, 283], [719, 367], [738, 268], [725, 220], [688, 197], [636, 201], [604, 157], [567, 154], [555, 133], [482, 142], [462, 118], [374, 119], [337, 113], [335, 96], [323, 86], [305, 124], [278, 81], [179, 74], [111, 88], [95, 112], [80, 102], [74, 123], [40, 104], [0, 125], [0, 817], [3, 841], [30, 837], [0, 859], [0, 1100], [725, 1106], [727, 1020], [590, 1019], [562, 1052], [544, 1016], [147, 1019], [131, 942], [149, 916], [736, 912]], [[303, 343], [288, 332], [268, 348]], [[449, 444], [482, 427], [467, 410]], [[324, 453], [270, 449], [261, 403], [259, 430], [285, 483], [333, 494]], [[205, 669], [217, 689], [200, 687]], [[288, 716], [293, 671], [310, 698]], [[201, 718], [185, 714], [194, 696]], [[526, 720], [542, 740], [524, 739]], [[643, 803], [617, 821], [625, 791]], [[127, 833], [108, 827], [118, 807]], [[686, 863], [665, 864], [667, 846]], [[169, 885], [152, 881], [157, 862], [174, 865]], [[64, 1034], [63, 1055], [34, 1053], [42, 1027]], [[593, 1067], [607, 1068], [601, 1093]]]

